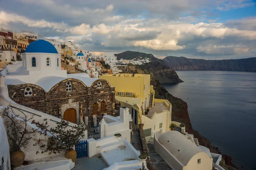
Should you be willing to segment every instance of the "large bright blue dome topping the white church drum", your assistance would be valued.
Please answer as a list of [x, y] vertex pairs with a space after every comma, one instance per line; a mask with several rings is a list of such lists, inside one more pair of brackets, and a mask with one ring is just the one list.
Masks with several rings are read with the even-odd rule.
[[53, 53], [58, 54], [56, 48], [48, 41], [37, 40], [28, 45], [25, 53]]

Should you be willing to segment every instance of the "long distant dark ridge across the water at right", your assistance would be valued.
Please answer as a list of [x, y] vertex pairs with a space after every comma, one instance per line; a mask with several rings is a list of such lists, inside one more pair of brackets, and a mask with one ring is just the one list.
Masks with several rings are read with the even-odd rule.
[[256, 57], [206, 60], [168, 56], [163, 61], [174, 70], [256, 71]]

